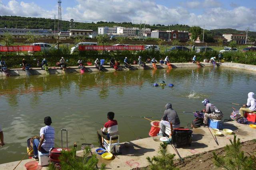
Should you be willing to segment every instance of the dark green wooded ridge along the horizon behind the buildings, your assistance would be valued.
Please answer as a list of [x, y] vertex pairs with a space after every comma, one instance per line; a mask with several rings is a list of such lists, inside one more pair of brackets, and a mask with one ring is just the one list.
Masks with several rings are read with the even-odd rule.
[[[133, 24], [132, 22], [104, 22], [98, 21], [97, 23], [84, 23], [84, 22], [74, 22], [74, 28], [72, 29], [92, 29], [94, 31], [98, 31], [98, 27], [108, 26], [112, 27], [123, 26], [123, 27], [144, 27], [144, 24]], [[56, 20], [56, 30], [57, 30], [58, 20]], [[70, 21], [61, 21], [61, 31], [67, 31], [70, 29]], [[54, 30], [54, 19], [48, 18], [31, 18], [31, 17], [20, 17], [20, 16], [0, 16], [0, 28], [26, 28], [26, 29], [52, 29]], [[190, 26], [188, 25], [145, 25], [146, 28], [150, 28], [151, 30], [180, 30], [180, 31], [189, 31]], [[226, 29], [211, 29], [206, 30], [206, 33], [211, 34], [212, 36], [222, 36], [224, 33], [246, 33], [246, 31], [240, 31], [236, 29], [226, 28]], [[248, 36], [256, 36], [255, 31], [249, 31]]]

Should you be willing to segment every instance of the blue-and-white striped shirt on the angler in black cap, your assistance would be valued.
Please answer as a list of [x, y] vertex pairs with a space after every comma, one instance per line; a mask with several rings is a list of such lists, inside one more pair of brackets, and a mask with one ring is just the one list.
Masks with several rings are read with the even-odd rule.
[[40, 137], [44, 135], [42, 147], [47, 152], [54, 147], [55, 130], [51, 126], [45, 126], [40, 129]]

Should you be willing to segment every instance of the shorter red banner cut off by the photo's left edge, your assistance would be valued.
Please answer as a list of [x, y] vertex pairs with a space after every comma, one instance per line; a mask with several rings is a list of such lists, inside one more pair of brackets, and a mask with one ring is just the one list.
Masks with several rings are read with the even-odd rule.
[[39, 45], [0, 46], [0, 52], [41, 51]]

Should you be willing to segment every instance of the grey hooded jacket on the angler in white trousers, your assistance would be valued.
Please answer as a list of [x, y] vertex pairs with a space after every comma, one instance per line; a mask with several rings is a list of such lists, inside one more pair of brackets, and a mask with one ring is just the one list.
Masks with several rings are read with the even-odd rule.
[[166, 110], [164, 111], [162, 120], [168, 121], [169, 123], [172, 122], [173, 125], [180, 124], [180, 119], [178, 117], [177, 112], [174, 109], [172, 109], [172, 104], [166, 104], [165, 108]]

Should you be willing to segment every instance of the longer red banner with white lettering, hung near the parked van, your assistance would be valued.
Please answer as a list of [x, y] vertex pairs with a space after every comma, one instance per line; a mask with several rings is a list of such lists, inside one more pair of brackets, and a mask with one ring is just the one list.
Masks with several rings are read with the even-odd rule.
[[127, 46], [112, 46], [112, 45], [79, 45], [79, 51], [89, 50], [144, 50], [143, 45], [127, 45]]

